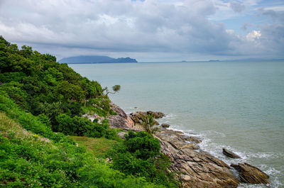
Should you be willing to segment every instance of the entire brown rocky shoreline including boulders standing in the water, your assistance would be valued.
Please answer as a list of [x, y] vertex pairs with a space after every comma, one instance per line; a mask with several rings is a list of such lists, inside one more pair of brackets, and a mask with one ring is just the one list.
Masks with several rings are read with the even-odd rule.
[[[124, 130], [141, 131], [139, 126], [141, 117], [151, 114], [155, 118], [165, 116], [160, 112], [137, 111], [127, 115], [119, 106], [111, 104], [117, 115], [109, 116], [110, 126], [123, 128]], [[157, 122], [158, 123], [158, 122]], [[181, 131], [168, 129], [170, 125], [160, 126], [155, 133], [155, 138], [160, 140], [160, 152], [168, 155], [172, 164], [170, 171], [175, 172], [182, 187], [238, 187], [240, 182], [251, 184], [269, 184], [268, 175], [249, 164], [227, 165], [222, 160], [200, 149], [201, 138], [186, 136]], [[124, 137], [121, 132], [121, 138]], [[223, 149], [228, 157], [239, 157], [230, 151]], [[239, 171], [239, 177], [235, 177], [232, 169]]]

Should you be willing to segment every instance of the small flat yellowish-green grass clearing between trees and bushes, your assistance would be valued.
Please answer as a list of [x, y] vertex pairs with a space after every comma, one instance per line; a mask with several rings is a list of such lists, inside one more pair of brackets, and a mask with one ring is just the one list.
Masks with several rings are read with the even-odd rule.
[[87, 150], [91, 151], [97, 157], [104, 157], [107, 150], [116, 144], [115, 140], [107, 138], [88, 138], [84, 136], [70, 136], [79, 145], [84, 145]]

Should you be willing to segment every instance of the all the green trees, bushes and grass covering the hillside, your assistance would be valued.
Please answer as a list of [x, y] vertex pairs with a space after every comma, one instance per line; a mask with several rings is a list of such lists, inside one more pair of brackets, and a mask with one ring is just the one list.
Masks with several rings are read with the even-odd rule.
[[109, 128], [105, 91], [0, 36], [0, 187], [178, 187], [156, 138]]

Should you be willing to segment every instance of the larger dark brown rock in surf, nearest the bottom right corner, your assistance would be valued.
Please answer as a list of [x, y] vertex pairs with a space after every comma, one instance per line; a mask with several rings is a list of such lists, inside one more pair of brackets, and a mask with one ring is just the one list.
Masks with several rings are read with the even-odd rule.
[[241, 182], [250, 184], [270, 184], [268, 181], [269, 176], [247, 163], [239, 163], [239, 165], [232, 164], [231, 167], [239, 171]]

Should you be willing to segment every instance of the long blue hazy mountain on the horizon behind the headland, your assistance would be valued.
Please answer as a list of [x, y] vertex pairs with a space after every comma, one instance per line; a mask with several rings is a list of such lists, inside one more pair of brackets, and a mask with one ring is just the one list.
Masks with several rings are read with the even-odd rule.
[[136, 59], [130, 57], [112, 58], [102, 55], [80, 55], [75, 57], [66, 57], [58, 62], [67, 64], [80, 64], [80, 63], [111, 63], [111, 62], [137, 62]]

